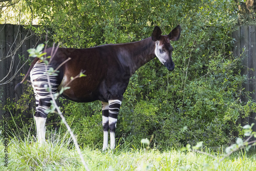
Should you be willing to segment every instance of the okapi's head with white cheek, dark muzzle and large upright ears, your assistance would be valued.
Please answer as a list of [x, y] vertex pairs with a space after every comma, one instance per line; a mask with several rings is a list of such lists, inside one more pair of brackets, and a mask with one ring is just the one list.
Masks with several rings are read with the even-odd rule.
[[168, 35], [162, 35], [161, 29], [156, 26], [151, 37], [156, 42], [155, 54], [157, 58], [169, 71], [173, 71], [173, 47], [170, 45], [170, 40], [176, 41], [180, 38], [180, 26], [174, 28]]

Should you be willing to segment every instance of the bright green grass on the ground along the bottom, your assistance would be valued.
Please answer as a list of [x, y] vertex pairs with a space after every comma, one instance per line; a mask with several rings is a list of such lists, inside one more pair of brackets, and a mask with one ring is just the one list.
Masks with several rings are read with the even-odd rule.
[[[10, 139], [8, 167], [4, 166], [4, 145], [0, 139], [0, 170], [85, 170], [68, 134], [48, 136], [46, 145], [39, 147], [30, 137], [25, 140]], [[83, 148], [82, 154], [91, 170], [256, 170], [256, 155], [243, 149], [218, 162], [225, 155], [225, 148], [202, 151], [217, 157], [214, 159], [197, 152], [182, 152], [170, 148], [135, 149], [124, 145], [111, 152]]]

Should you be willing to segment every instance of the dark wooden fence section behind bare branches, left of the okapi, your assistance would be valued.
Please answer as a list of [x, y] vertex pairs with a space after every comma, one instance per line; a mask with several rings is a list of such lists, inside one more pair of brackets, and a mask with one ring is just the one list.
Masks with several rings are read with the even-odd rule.
[[[14, 87], [22, 80], [20, 73], [26, 74], [29, 69], [27, 50], [41, 42], [39, 37], [23, 26], [0, 25], [0, 119], [5, 114], [3, 106], [7, 99], [18, 100], [25, 91], [24, 86], [20, 86], [14, 93]], [[28, 105], [29, 108], [33, 106]], [[32, 117], [29, 113], [27, 115], [28, 118]]]

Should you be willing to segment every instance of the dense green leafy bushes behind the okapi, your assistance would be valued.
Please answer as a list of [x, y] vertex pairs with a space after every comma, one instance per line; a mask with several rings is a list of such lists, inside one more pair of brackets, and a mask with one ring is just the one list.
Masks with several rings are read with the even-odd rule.
[[[242, 57], [233, 56], [231, 35], [238, 15], [234, 1], [38, 1], [27, 2], [40, 18], [38, 34], [62, 47], [88, 48], [131, 42], [163, 34], [176, 25], [181, 38], [172, 42], [175, 71], [154, 59], [130, 79], [122, 102], [116, 136], [140, 144], [142, 138], [164, 146], [227, 144], [238, 120], [255, 112], [243, 92]], [[247, 102], [241, 96], [248, 96]], [[62, 100], [62, 99], [61, 99]], [[78, 141], [101, 147], [100, 103], [62, 101]], [[99, 143], [100, 142], [100, 143]]]

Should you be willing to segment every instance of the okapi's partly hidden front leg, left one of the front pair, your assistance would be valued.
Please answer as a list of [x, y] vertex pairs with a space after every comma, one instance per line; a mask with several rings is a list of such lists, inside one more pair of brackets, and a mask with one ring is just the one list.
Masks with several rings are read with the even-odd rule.
[[108, 148], [108, 139], [109, 139], [109, 103], [102, 101], [102, 126], [103, 126], [103, 148], [102, 151], [105, 151]]

